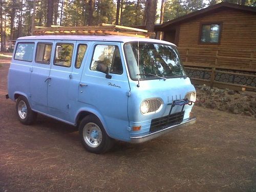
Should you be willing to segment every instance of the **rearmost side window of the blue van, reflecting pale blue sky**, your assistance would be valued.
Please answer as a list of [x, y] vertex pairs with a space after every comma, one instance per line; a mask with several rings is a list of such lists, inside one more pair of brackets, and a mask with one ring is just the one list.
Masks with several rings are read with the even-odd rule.
[[33, 42], [18, 42], [14, 59], [31, 62], [33, 60], [34, 46]]

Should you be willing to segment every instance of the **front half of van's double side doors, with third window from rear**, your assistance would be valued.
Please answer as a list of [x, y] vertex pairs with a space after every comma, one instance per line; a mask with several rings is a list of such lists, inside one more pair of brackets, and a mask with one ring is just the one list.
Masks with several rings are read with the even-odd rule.
[[69, 84], [75, 41], [55, 41], [54, 59], [48, 80], [49, 114], [66, 120], [70, 108]]

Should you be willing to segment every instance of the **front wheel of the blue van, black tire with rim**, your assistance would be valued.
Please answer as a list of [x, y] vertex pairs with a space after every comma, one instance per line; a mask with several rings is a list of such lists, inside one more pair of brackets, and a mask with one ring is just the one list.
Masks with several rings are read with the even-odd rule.
[[88, 115], [79, 124], [79, 136], [88, 152], [102, 154], [110, 150], [114, 140], [106, 134], [102, 123], [94, 115]]

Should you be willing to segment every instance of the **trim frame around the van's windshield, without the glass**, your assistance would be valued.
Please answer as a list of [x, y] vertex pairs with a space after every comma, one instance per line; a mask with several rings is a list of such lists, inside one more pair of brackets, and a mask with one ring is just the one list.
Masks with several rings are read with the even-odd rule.
[[160, 42], [154, 42], [154, 41], [139, 41], [139, 44], [159, 44], [159, 45], [166, 45], [166, 46], [170, 46], [174, 49], [174, 51], [177, 51], [177, 54], [178, 54], [178, 57], [179, 57], [179, 60], [180, 60], [180, 65], [182, 67], [182, 70], [184, 71], [184, 74], [185, 75], [177, 75], [177, 76], [172, 76], [172, 77], [157, 77], [157, 76], [152, 76], [152, 78], [147, 78], [147, 79], [143, 79], [143, 78], [132, 78], [131, 77], [131, 71], [130, 71], [130, 68], [128, 66], [128, 62], [127, 62], [127, 58], [126, 58], [126, 49], [124, 49], [125, 45], [126, 44], [137, 44], [138, 41], [129, 41], [129, 42], [125, 42], [123, 44], [123, 55], [124, 55], [124, 58], [125, 58], [125, 61], [126, 61], [126, 65], [127, 65], [127, 69], [128, 69], [128, 73], [129, 73], [129, 77], [133, 80], [133, 81], [138, 81], [138, 79], [140, 81], [144, 81], [144, 80], [156, 80], [156, 79], [163, 79], [163, 78], [166, 78], [166, 79], [172, 79], [172, 78], [187, 78], [187, 75], [185, 73], [185, 70], [184, 70], [184, 65], [183, 65], [183, 62], [180, 58], [180, 54], [178, 52], [178, 47], [174, 44], [165, 44], [165, 43], [160, 43]]

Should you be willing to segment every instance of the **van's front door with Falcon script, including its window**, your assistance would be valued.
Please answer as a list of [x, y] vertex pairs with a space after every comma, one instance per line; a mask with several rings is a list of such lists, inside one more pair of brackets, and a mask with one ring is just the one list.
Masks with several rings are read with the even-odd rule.
[[[129, 120], [127, 100], [130, 91], [121, 54], [121, 44], [93, 42], [88, 63], [79, 83], [78, 101], [96, 111], [112, 138], [127, 138]], [[109, 75], [97, 71], [97, 65], [109, 68]]]

